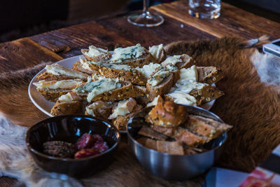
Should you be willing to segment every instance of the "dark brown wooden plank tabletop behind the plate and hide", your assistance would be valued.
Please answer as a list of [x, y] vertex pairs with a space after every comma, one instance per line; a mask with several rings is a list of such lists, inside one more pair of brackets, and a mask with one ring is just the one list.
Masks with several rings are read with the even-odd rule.
[[[165, 23], [159, 27], [137, 27], [130, 25], [126, 20], [127, 14], [123, 14], [0, 43], [0, 72], [80, 55], [80, 49], [91, 44], [106, 48], [116, 43], [121, 46], [141, 43], [148, 47], [172, 41], [216, 39], [223, 36], [253, 39], [267, 34], [272, 39], [280, 38], [279, 23], [225, 3], [222, 3], [221, 17], [216, 20], [191, 17], [187, 1], [153, 6], [151, 11], [162, 15]], [[15, 179], [0, 178], [1, 186], [13, 183]]]

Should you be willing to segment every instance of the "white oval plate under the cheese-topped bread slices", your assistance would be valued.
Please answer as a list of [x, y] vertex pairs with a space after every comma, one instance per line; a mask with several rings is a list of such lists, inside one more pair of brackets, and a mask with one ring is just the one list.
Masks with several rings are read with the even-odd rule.
[[[83, 55], [69, 57], [64, 60], [60, 60], [59, 62], [56, 62], [56, 63], [62, 65], [63, 67], [68, 67], [69, 69], [72, 69], [73, 64], [75, 64], [75, 62], [80, 60], [80, 57], [83, 57]], [[45, 72], [45, 69], [42, 69], [41, 71], [39, 71], [38, 74], [42, 74], [43, 72]], [[36, 76], [38, 76], [38, 74], [36, 74]], [[33, 83], [36, 83], [39, 81], [38, 78], [36, 78], [36, 76], [34, 76], [34, 78], [32, 78], [31, 82], [29, 83], [29, 87], [28, 87], [29, 97], [31, 99], [31, 102], [33, 102], [33, 104], [38, 109], [43, 111], [43, 113], [47, 114], [48, 116], [52, 117], [52, 115], [50, 114], [50, 110], [52, 109], [52, 106], [55, 105], [55, 102], [50, 102], [50, 101], [46, 100], [45, 97], [43, 97], [43, 95], [41, 95], [36, 90], [36, 86], [33, 85]], [[210, 110], [211, 107], [214, 105], [214, 102], [215, 102], [215, 100], [212, 100], [211, 102], [202, 104], [202, 106], [200, 106], [200, 107], [202, 107], [203, 109], [206, 109], [206, 110]]]

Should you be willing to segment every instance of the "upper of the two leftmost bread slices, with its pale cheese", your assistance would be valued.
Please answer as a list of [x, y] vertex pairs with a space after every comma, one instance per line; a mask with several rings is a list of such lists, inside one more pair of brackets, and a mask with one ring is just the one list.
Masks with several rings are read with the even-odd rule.
[[38, 80], [45, 81], [60, 81], [66, 79], [80, 78], [83, 81], [87, 80], [87, 74], [80, 71], [62, 67], [59, 64], [51, 64], [45, 66], [45, 72], [37, 76]]

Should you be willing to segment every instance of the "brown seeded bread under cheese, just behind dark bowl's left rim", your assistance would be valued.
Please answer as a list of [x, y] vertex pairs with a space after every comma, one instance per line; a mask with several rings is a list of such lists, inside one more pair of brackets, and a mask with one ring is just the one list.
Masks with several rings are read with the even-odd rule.
[[85, 113], [84, 108], [83, 102], [81, 101], [61, 102], [57, 100], [55, 106], [52, 107], [50, 114], [58, 116], [62, 114]]

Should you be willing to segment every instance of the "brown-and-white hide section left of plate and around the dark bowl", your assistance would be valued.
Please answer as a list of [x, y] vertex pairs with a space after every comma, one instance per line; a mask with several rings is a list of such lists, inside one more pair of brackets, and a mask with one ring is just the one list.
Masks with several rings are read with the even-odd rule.
[[0, 76], [0, 176], [11, 176], [27, 186], [131, 186], [132, 183], [134, 186], [202, 185], [204, 176], [179, 182], [165, 181], [147, 173], [134, 157], [125, 136], [113, 163], [90, 178], [78, 181], [39, 168], [25, 146], [25, 133], [28, 127], [48, 116], [31, 103], [27, 90], [31, 78], [45, 64]]

